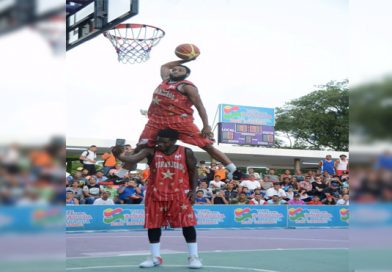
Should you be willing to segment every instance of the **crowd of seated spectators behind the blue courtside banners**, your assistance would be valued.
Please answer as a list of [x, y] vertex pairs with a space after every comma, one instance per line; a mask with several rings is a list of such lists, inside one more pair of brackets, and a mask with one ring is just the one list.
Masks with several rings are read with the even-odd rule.
[[[131, 146], [126, 147], [132, 151]], [[101, 156], [102, 169], [95, 169], [96, 146], [82, 152], [83, 167], [66, 177], [68, 205], [141, 204], [144, 203], [149, 169], [126, 171], [119, 174], [121, 164], [111, 152]], [[251, 205], [348, 205], [349, 172], [345, 155], [333, 160], [327, 155], [318, 170], [287, 169], [278, 175], [274, 169], [257, 173], [248, 168], [237, 170], [233, 179], [221, 163], [197, 166], [198, 186], [196, 204], [251, 204]]]

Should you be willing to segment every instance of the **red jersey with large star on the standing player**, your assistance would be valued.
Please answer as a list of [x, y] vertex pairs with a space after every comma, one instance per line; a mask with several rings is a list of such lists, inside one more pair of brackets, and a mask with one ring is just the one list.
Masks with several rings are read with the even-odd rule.
[[189, 174], [186, 165], [185, 147], [177, 146], [171, 155], [155, 151], [150, 162], [147, 197], [156, 201], [171, 201], [186, 198], [189, 190]]

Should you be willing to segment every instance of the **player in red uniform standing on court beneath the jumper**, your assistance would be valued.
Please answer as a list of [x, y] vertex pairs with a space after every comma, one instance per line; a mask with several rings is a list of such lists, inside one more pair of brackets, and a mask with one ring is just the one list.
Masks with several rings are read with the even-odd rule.
[[196, 217], [192, 208], [197, 186], [196, 158], [189, 148], [175, 145], [178, 137], [177, 131], [164, 129], [158, 132], [155, 149], [144, 148], [131, 155], [122, 147], [113, 148], [113, 154], [123, 162], [137, 163], [147, 158], [150, 166], [144, 227], [148, 229], [151, 256], [140, 264], [142, 268], [162, 264], [161, 227], [168, 224], [173, 228], [182, 228], [188, 245], [189, 268], [202, 267], [194, 227]]

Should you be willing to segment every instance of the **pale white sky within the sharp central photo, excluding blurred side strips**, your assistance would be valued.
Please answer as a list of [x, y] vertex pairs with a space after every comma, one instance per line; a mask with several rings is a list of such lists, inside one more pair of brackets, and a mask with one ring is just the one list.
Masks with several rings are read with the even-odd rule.
[[137, 140], [147, 121], [140, 109], [182, 43], [200, 48], [189, 80], [211, 124], [218, 104], [279, 107], [314, 85], [347, 78], [347, 12], [345, 1], [140, 1], [128, 22], [166, 32], [150, 60], [119, 63], [103, 36], [67, 52], [67, 137]]

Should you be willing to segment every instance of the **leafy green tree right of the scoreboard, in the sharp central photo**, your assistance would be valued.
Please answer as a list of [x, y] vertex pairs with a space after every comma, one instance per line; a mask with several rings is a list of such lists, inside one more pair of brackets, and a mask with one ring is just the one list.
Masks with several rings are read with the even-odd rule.
[[331, 81], [276, 109], [275, 130], [290, 148], [348, 150], [348, 80]]

